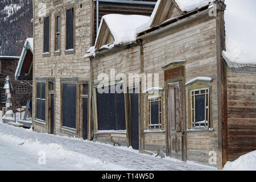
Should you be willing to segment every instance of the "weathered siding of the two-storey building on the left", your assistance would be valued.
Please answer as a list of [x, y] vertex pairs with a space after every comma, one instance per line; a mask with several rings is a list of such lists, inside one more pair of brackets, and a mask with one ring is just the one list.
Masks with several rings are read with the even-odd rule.
[[[50, 16], [50, 44], [49, 55], [43, 53], [43, 17], [39, 17], [42, 10], [39, 4], [42, 1], [34, 1], [34, 60], [33, 60], [33, 110], [36, 110], [36, 90], [35, 77], [55, 77], [55, 131], [56, 135], [69, 135], [79, 137], [79, 132], [69, 133], [61, 131], [61, 84], [60, 77], [80, 77], [90, 80], [90, 62], [89, 59], [83, 59], [86, 50], [91, 45], [92, 35], [91, 24], [91, 1], [81, 0], [79, 2], [71, 0], [63, 0], [61, 3], [53, 5], [53, 1], [43, 1], [46, 5], [46, 14]], [[80, 5], [82, 4], [82, 8]], [[65, 52], [65, 10], [74, 8], [75, 10], [75, 52]], [[60, 15], [60, 53], [55, 51], [55, 16]], [[41, 22], [40, 22], [41, 19]], [[80, 100], [77, 100], [80, 102]], [[46, 102], [47, 104], [47, 102]], [[48, 109], [46, 109], [47, 111]], [[77, 110], [79, 111], [79, 110]], [[33, 120], [35, 120], [35, 113]], [[47, 117], [46, 117], [47, 118]], [[77, 122], [80, 119], [77, 118]], [[77, 123], [79, 126], [79, 123]], [[48, 122], [46, 125], [35, 123], [34, 130], [47, 133]], [[77, 128], [79, 131], [79, 128]]]

